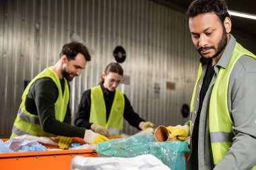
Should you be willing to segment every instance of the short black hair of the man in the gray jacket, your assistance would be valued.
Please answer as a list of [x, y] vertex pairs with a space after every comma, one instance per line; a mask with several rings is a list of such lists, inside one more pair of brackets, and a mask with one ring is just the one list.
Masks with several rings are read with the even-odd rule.
[[224, 0], [195, 0], [187, 10], [187, 23], [189, 23], [190, 17], [195, 17], [202, 13], [215, 13], [222, 24], [226, 17], [230, 17]]

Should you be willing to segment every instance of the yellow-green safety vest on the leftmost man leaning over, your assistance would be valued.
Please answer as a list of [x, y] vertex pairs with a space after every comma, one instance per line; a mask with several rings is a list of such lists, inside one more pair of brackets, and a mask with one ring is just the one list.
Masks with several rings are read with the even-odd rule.
[[26, 97], [28, 95], [30, 87], [37, 79], [41, 79], [43, 77], [51, 78], [57, 85], [57, 88], [59, 90], [59, 96], [55, 103], [55, 118], [56, 120], [63, 122], [66, 111], [67, 111], [67, 105], [69, 102], [68, 83], [67, 83], [67, 80], [65, 79], [65, 90], [63, 95], [63, 92], [61, 89], [61, 82], [59, 81], [58, 75], [55, 73], [55, 71], [53, 71], [52, 67], [48, 67], [44, 69], [44, 71], [39, 73], [36, 77], [34, 77], [34, 79], [32, 79], [32, 81], [26, 87], [22, 95], [22, 103], [20, 104], [18, 115], [13, 124], [11, 138], [15, 136], [20, 136], [23, 134], [31, 134], [34, 136], [55, 136], [54, 134], [44, 132], [44, 130], [42, 130], [42, 126], [40, 125], [38, 116], [34, 114], [30, 114], [25, 107]]

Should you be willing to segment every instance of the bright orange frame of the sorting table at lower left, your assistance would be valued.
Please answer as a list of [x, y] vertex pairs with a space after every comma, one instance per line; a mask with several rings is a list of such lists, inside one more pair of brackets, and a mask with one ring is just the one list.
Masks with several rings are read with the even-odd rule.
[[[55, 146], [49, 147], [49, 145], [46, 147], [55, 148]], [[0, 153], [0, 169], [66, 170], [70, 169], [71, 160], [77, 155], [82, 157], [98, 157], [94, 149]]]

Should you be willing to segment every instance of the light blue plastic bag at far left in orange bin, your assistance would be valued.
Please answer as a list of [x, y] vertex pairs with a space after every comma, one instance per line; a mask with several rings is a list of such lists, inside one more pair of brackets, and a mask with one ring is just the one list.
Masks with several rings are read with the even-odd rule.
[[35, 140], [21, 140], [11, 138], [4, 143], [0, 144], [1, 153], [13, 152], [34, 152], [34, 151], [48, 151], [45, 146], [36, 142]]

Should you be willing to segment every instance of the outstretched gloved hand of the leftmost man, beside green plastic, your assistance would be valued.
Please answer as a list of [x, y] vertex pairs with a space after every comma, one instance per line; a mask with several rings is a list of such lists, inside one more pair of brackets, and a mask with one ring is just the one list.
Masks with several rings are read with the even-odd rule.
[[97, 134], [92, 130], [86, 130], [84, 134], [84, 141], [89, 144], [98, 144], [99, 142], [108, 141], [109, 138], [102, 136], [101, 134]]

